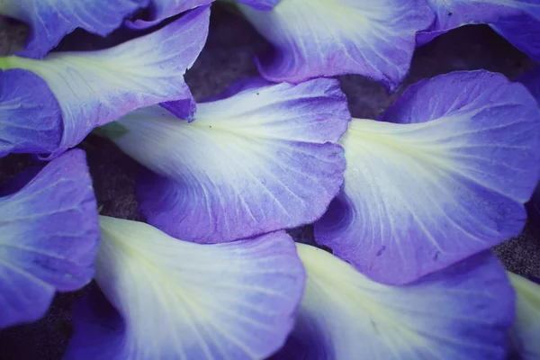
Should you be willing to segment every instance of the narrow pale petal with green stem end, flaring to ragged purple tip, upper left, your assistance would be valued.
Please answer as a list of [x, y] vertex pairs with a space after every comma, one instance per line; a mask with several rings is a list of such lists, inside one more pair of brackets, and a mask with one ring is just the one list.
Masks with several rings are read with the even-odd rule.
[[139, 107], [193, 102], [184, 73], [201, 52], [209, 17], [210, 8], [204, 6], [111, 49], [52, 53], [43, 60], [0, 58], [0, 67], [22, 67], [47, 82], [62, 108], [62, 150], [75, 146], [95, 126]]

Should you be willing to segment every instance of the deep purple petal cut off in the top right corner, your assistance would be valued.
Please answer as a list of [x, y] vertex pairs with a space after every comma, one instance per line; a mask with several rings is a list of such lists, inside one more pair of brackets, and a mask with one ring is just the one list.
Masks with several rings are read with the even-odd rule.
[[423, 45], [460, 26], [489, 23], [494, 31], [540, 61], [540, 3], [536, 0], [428, 0], [435, 22], [418, 36]]

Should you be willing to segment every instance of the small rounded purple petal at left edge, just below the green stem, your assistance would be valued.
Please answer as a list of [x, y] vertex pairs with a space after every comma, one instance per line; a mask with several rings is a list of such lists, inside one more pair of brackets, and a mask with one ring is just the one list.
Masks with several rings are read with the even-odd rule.
[[0, 157], [50, 153], [62, 136], [60, 106], [39, 76], [0, 70]]

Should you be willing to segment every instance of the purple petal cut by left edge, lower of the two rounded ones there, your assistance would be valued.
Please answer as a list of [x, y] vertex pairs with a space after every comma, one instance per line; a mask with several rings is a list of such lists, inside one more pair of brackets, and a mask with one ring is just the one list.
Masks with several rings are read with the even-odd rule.
[[85, 154], [56, 158], [0, 198], [0, 328], [38, 320], [57, 291], [94, 276], [97, 211]]

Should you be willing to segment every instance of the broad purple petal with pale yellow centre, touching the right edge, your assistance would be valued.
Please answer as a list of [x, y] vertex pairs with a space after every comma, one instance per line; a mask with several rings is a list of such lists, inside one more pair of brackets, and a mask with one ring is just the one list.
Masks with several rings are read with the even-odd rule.
[[320, 244], [404, 284], [523, 229], [540, 174], [540, 111], [523, 85], [487, 71], [437, 76], [379, 120], [353, 120], [342, 139], [344, 192], [315, 225]]

